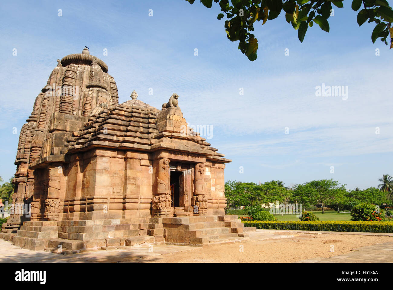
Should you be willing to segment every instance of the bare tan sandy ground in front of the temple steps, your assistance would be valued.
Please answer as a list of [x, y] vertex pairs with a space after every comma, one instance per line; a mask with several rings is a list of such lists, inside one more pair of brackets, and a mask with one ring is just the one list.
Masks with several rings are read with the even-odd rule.
[[[288, 235], [291, 233], [280, 232], [277, 234]], [[363, 246], [392, 241], [393, 237], [299, 234], [292, 238], [250, 240], [241, 244], [213, 245], [210, 248], [195, 248], [191, 251], [168, 253], [158, 258], [155, 257], [154, 262], [297, 262], [316, 257], [333, 257], [349, 253]], [[149, 262], [149, 259], [147, 257], [143, 260]]]

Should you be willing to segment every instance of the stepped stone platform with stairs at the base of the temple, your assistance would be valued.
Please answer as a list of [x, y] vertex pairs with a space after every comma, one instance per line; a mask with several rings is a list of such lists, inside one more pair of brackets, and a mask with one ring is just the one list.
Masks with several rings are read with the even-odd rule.
[[16, 234], [2, 238], [29, 250], [71, 253], [140, 244], [207, 247], [248, 240], [246, 231], [256, 228], [243, 228], [237, 215], [112, 218], [24, 222]]

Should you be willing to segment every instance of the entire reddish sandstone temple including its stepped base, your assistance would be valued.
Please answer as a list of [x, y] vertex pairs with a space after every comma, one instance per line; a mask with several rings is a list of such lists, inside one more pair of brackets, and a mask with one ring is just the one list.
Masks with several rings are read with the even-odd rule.
[[189, 128], [178, 95], [160, 110], [135, 91], [119, 105], [107, 64], [87, 48], [57, 62], [20, 130], [1, 237], [70, 251], [247, 239], [224, 212], [231, 160]]

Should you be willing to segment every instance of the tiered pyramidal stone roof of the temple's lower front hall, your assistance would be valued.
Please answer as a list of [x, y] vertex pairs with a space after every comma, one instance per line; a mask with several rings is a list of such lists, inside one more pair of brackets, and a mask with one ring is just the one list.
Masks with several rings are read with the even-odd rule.
[[92, 115], [88, 123], [68, 139], [63, 153], [86, 151], [92, 147], [136, 151], [173, 149], [230, 162], [206, 139], [187, 127], [180, 109], [158, 110], [136, 98]]

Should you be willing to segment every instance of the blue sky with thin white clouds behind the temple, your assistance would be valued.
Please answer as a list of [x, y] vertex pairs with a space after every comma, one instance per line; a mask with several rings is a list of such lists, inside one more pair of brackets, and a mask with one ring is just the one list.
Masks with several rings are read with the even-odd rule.
[[[303, 43], [284, 15], [255, 24], [258, 59], [250, 62], [226, 38], [214, 3], [2, 3], [0, 176], [15, 173], [19, 129], [56, 59], [88, 46], [108, 64], [120, 103], [136, 90], [138, 99], [161, 108], [175, 92], [190, 125], [212, 126], [207, 141], [233, 160], [226, 180], [288, 186], [334, 178], [351, 189], [376, 187], [382, 174], [393, 174], [393, 50], [373, 44], [374, 25], [359, 28], [351, 2], [343, 4], [329, 18], [330, 33], [314, 25]], [[316, 96], [323, 83], [348, 86], [348, 98]]]

